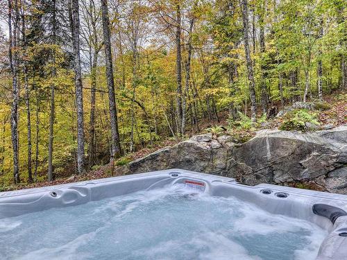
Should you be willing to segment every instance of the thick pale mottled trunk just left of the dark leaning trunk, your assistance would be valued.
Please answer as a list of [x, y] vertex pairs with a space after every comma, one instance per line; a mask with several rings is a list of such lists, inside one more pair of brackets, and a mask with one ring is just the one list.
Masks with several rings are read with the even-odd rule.
[[83, 86], [80, 57], [80, 18], [78, 13], [78, 0], [71, 1], [71, 28], [74, 46], [74, 69], [77, 110], [77, 166], [78, 174], [85, 173], [85, 137], [83, 123]]

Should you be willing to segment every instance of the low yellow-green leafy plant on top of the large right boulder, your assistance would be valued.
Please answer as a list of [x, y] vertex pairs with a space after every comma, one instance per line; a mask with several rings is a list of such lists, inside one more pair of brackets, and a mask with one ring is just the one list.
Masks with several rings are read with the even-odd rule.
[[308, 112], [307, 110], [293, 110], [285, 114], [282, 124], [280, 125], [280, 130], [306, 131], [308, 130], [306, 123], [319, 125], [317, 114]]

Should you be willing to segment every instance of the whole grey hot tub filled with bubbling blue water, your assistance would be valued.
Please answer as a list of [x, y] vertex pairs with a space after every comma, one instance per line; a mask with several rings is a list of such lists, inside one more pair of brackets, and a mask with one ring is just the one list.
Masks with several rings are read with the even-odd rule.
[[0, 259], [347, 259], [347, 196], [180, 169], [0, 193]]

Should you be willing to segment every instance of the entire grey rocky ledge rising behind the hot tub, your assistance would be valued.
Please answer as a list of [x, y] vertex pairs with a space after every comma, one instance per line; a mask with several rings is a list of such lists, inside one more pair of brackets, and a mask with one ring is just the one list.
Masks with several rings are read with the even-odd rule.
[[347, 194], [347, 125], [316, 132], [260, 130], [235, 144], [231, 137], [198, 135], [142, 157], [124, 174], [184, 168], [260, 183], [307, 187]]

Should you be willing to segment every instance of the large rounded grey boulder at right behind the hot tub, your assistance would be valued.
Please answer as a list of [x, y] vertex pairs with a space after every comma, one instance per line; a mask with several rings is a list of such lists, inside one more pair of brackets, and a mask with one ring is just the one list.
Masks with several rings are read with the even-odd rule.
[[340, 137], [347, 133], [347, 127], [329, 131], [303, 134], [262, 130], [245, 144], [235, 146], [226, 175], [251, 185], [313, 181], [327, 191], [346, 193], [347, 145]]

